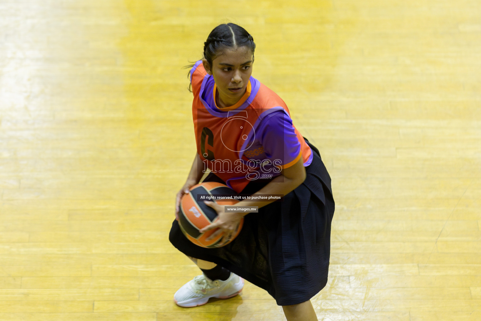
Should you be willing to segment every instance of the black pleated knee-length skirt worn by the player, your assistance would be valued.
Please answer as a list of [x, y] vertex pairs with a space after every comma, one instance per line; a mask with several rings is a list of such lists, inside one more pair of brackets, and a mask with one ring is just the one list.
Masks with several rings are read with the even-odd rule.
[[[311, 299], [328, 280], [330, 231], [334, 215], [330, 177], [316, 147], [306, 179], [294, 191], [244, 217], [240, 234], [220, 248], [192, 244], [172, 223], [170, 242], [181, 252], [214, 262], [265, 289], [278, 305]], [[213, 173], [204, 181], [222, 182]], [[252, 181], [241, 192], [252, 194], [266, 185]]]

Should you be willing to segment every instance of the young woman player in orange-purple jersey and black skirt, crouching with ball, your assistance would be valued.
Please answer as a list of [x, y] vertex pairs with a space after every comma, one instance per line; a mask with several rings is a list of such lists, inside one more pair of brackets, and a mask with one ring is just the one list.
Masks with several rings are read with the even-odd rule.
[[[181, 232], [177, 219], [169, 240], [203, 271], [174, 295], [177, 305], [195, 307], [210, 297], [237, 295], [243, 279], [265, 289], [288, 321], [317, 320], [310, 299], [327, 283], [334, 200], [319, 152], [292, 124], [286, 104], [251, 77], [255, 44], [241, 26], [215, 27], [204, 43], [203, 59], [192, 66], [197, 152], [180, 198], [203, 181], [227, 184], [244, 195], [282, 194], [282, 201], [243, 200], [258, 213], [226, 213], [207, 202], [218, 219], [201, 232], [226, 232], [244, 218], [229, 244], [202, 248]], [[215, 233], [215, 236], [217, 235]], [[215, 237], [213, 236], [213, 237]]]

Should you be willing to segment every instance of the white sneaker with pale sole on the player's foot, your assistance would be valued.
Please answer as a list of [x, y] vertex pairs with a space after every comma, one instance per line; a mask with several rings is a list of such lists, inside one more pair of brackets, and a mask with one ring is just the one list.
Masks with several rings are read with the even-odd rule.
[[179, 307], [197, 307], [206, 304], [211, 297], [227, 299], [238, 295], [243, 287], [244, 280], [232, 272], [226, 281], [212, 281], [202, 274], [178, 289], [174, 300]]

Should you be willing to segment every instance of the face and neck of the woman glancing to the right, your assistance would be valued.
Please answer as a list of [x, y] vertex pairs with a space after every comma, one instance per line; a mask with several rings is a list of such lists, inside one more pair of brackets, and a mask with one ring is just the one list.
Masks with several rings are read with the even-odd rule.
[[232, 106], [241, 99], [252, 74], [252, 64], [252, 51], [245, 46], [223, 50], [212, 61], [212, 66], [203, 60], [207, 73], [214, 76], [219, 107]]

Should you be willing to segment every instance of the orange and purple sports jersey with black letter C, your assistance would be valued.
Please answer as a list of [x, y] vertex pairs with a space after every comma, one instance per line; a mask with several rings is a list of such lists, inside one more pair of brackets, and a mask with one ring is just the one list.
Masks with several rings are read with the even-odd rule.
[[279, 175], [301, 157], [304, 166], [311, 164], [313, 152], [292, 124], [287, 105], [257, 79], [251, 77], [241, 100], [226, 108], [217, 107], [214, 77], [202, 61], [194, 64], [190, 80], [197, 153], [237, 193], [251, 180]]

